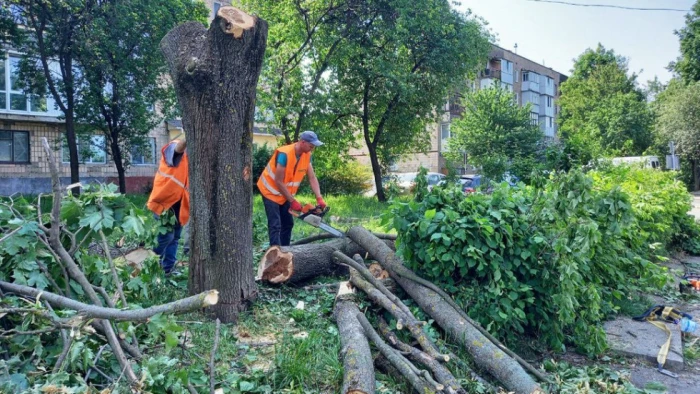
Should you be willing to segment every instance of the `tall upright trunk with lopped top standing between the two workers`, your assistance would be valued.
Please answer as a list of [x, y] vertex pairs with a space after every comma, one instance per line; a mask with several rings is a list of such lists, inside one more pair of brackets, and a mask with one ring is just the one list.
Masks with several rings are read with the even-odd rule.
[[235, 322], [257, 294], [253, 276], [255, 93], [267, 22], [222, 7], [207, 30], [190, 22], [161, 42], [187, 133], [191, 294], [217, 289], [213, 310]]

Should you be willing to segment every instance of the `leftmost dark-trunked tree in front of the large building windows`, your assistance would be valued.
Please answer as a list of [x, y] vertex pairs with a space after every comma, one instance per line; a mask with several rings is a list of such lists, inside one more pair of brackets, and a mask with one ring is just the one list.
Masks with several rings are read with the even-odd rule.
[[[80, 181], [75, 107], [80, 89], [76, 67], [78, 31], [96, 7], [84, 0], [3, 0], [11, 8], [11, 21], [22, 25], [22, 37], [15, 48], [22, 53], [19, 83], [25, 90], [43, 96], [51, 94], [63, 113], [70, 156], [71, 183]], [[7, 16], [8, 14], [4, 14]], [[78, 193], [78, 188], [72, 189]]]

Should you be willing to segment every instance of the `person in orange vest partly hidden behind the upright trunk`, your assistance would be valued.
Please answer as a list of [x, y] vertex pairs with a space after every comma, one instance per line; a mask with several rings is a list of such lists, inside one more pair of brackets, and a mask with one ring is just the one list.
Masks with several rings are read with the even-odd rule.
[[182, 226], [190, 219], [190, 192], [185, 148], [187, 141], [173, 140], [161, 149], [160, 165], [153, 180], [153, 191], [148, 198], [148, 209], [156, 217], [170, 210], [175, 224], [165, 234], [158, 234], [158, 245], [153, 251], [160, 256], [160, 266], [170, 275], [177, 262], [177, 247]]

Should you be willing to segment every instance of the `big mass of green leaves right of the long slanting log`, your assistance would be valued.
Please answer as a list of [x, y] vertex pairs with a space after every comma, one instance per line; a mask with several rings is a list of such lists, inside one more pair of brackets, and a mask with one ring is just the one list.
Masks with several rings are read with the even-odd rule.
[[490, 331], [600, 353], [599, 323], [615, 300], [666, 277], [620, 188], [596, 188], [580, 171], [534, 182], [541, 188], [503, 184], [466, 198], [435, 188], [422, 202], [395, 203], [399, 252]]

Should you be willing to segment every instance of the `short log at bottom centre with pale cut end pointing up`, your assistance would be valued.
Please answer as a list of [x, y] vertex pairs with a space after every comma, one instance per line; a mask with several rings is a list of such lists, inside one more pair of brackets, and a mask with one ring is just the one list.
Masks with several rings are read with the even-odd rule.
[[338, 325], [343, 360], [342, 394], [374, 394], [375, 377], [372, 353], [364, 329], [357, 321], [360, 310], [348, 282], [339, 286], [333, 316]]

